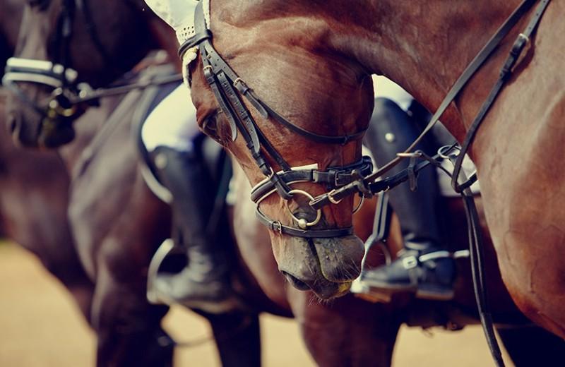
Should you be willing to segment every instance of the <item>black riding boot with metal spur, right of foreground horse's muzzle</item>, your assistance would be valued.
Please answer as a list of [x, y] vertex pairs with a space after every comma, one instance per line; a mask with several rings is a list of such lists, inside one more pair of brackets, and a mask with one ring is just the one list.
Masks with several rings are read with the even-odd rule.
[[[398, 104], [384, 98], [375, 100], [375, 108], [365, 144], [378, 166], [383, 166], [417, 138], [420, 129], [412, 116]], [[417, 149], [428, 154], [425, 143]], [[393, 175], [405, 169], [403, 162], [388, 172]], [[417, 179], [417, 191], [408, 183], [391, 190], [389, 202], [398, 215], [404, 239], [404, 251], [390, 265], [364, 272], [363, 281], [375, 289], [389, 292], [413, 291], [425, 299], [451, 299], [455, 264], [447, 257], [438, 222], [439, 187], [434, 169], [424, 169]]]

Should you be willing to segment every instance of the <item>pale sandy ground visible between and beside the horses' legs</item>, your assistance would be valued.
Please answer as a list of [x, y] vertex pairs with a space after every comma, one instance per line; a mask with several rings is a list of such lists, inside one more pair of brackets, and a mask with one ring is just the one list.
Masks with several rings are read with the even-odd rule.
[[[182, 308], [174, 308], [164, 322], [181, 342], [210, 334], [203, 319]], [[264, 366], [315, 366], [292, 320], [262, 315], [261, 332]], [[94, 335], [64, 287], [33, 255], [0, 243], [0, 366], [94, 366], [94, 353]], [[175, 362], [177, 366], [219, 366], [212, 342], [177, 349]], [[393, 366], [482, 367], [493, 363], [480, 327], [462, 332], [403, 327]]]

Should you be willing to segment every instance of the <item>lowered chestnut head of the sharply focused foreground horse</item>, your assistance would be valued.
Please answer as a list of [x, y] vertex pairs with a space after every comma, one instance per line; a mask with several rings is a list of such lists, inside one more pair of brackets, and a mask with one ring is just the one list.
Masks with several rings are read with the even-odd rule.
[[[288, 4], [288, 5], [287, 5]], [[302, 16], [304, 5], [280, 2], [268, 18], [268, 8], [242, 5], [236, 1], [212, 3], [213, 45], [231, 68], [270, 108], [306, 131], [323, 136], [352, 136], [364, 131], [373, 107], [371, 78], [352, 59], [336, 52], [331, 39], [330, 18]], [[221, 8], [221, 11], [220, 11]], [[292, 25], [288, 16], [295, 13]], [[192, 99], [198, 124], [225, 146], [246, 172], [251, 185], [266, 179], [239, 133], [234, 131], [203, 74], [202, 59], [191, 64]], [[289, 129], [272, 118], [261, 116], [248, 105], [258, 128], [291, 167], [318, 169], [343, 167], [361, 158], [361, 142], [320, 143]], [[264, 145], [263, 145], [263, 152]], [[265, 153], [268, 155], [267, 153]], [[281, 169], [273, 157], [267, 158], [274, 171]], [[285, 200], [273, 193], [259, 203], [271, 220], [297, 227], [295, 217], [313, 221], [309, 196], [328, 191], [316, 183], [294, 183], [301, 190]], [[254, 219], [249, 219], [254, 220]], [[309, 229], [340, 229], [352, 225], [352, 199], [323, 207], [321, 220]], [[359, 275], [364, 253], [357, 236], [304, 238], [270, 231], [273, 252], [281, 272], [299, 289], [312, 289], [323, 299], [345, 294]]]

